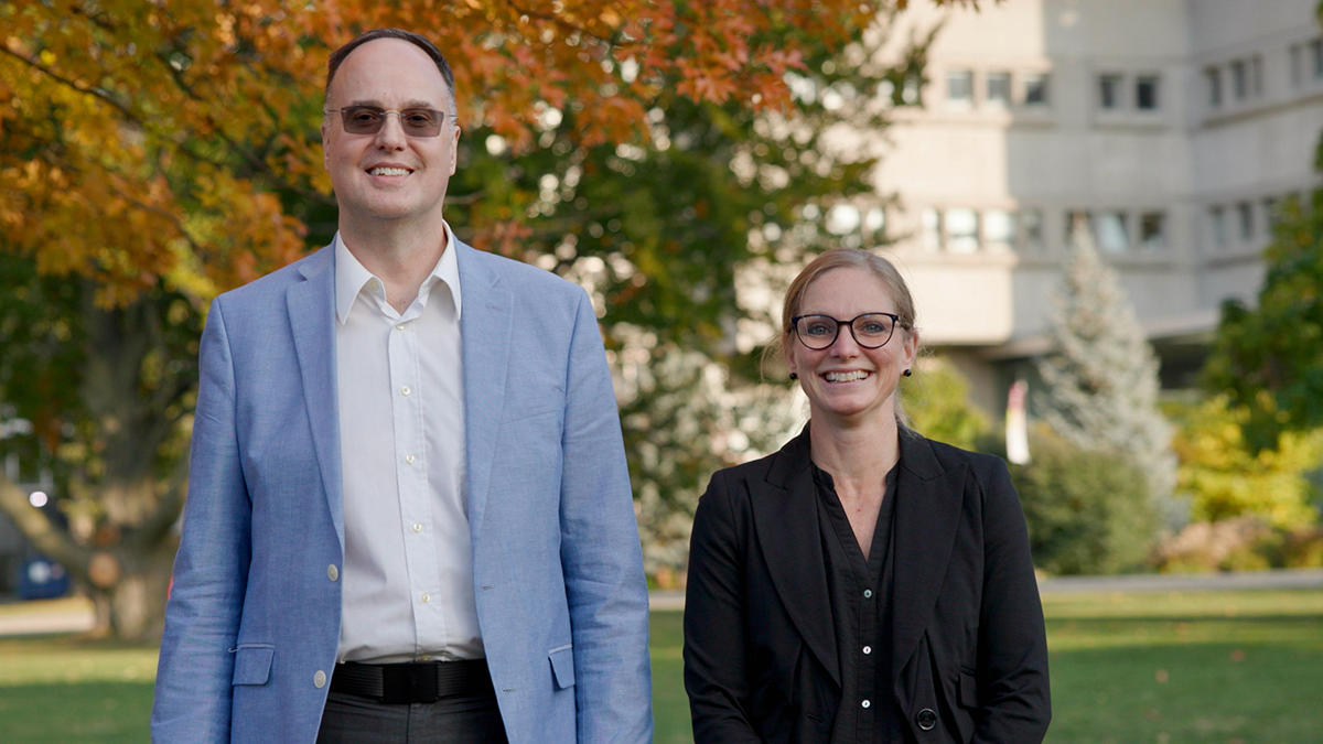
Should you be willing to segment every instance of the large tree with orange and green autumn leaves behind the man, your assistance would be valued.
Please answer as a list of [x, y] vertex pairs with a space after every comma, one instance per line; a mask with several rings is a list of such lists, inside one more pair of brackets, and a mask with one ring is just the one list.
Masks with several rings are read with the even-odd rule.
[[[741, 150], [721, 139], [745, 138], [747, 155], [758, 116], [804, 109], [786, 75], [816, 75], [816, 61], [893, 5], [5, 3], [0, 420], [28, 421], [32, 434], [0, 449], [21, 455], [29, 479], [50, 469], [61, 508], [32, 508], [3, 478], [0, 507], [91, 588], [103, 631], [157, 631], [169, 526], [187, 482], [201, 312], [218, 291], [328, 237], [320, 83], [329, 49], [357, 32], [421, 29], [451, 60], [468, 132], [467, 189], [452, 189], [462, 237], [552, 257], [549, 267], [570, 274], [582, 273], [581, 258], [606, 265], [631, 254], [627, 271], [598, 283], [602, 311], [716, 353], [734, 322], [718, 312], [729, 299], [722, 282], [749, 256], [751, 209], [779, 204], [766, 218], [789, 233], [808, 195], [857, 188], [865, 165], [816, 173], [798, 155], [816, 136], [786, 144], [758, 135], [782, 152], [783, 171], [800, 176], [794, 188], [769, 187], [777, 192], [769, 197], [732, 175]], [[691, 146], [681, 146], [681, 130]], [[544, 176], [556, 175], [556, 193], [576, 191], [572, 167], [578, 191], [601, 201], [579, 208], [579, 196], [568, 196], [549, 209]], [[669, 180], [650, 181], [639, 193], [651, 196], [630, 203], [620, 187], [646, 180], [643, 168]], [[713, 188], [693, 183], [722, 177]], [[685, 180], [695, 187], [684, 192], [689, 204], [652, 199]], [[741, 189], [762, 203], [732, 199]], [[663, 229], [639, 228], [650, 213]], [[669, 228], [672, 240], [658, 240]], [[566, 248], [570, 234], [586, 237]], [[726, 252], [708, 277], [693, 261], [705, 241]], [[700, 306], [696, 322], [688, 303]]]

